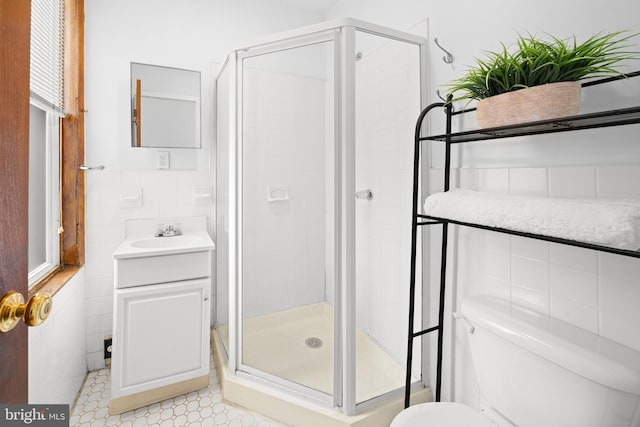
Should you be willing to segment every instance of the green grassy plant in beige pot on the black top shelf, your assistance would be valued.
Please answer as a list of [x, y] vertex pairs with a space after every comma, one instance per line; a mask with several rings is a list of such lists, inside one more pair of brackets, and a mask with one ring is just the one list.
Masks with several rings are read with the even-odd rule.
[[598, 33], [583, 43], [575, 37], [550, 41], [532, 35], [519, 36], [515, 49], [503, 44], [498, 52], [449, 83], [449, 93], [460, 99], [478, 100], [477, 120], [481, 128], [554, 119], [578, 113], [580, 80], [619, 75], [614, 66], [638, 59], [629, 51], [629, 39], [637, 34], [625, 31]]

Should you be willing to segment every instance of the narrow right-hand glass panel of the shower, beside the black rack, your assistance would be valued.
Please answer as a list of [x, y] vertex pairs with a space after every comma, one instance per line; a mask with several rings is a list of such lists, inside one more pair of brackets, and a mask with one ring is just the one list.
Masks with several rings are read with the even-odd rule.
[[[421, 85], [419, 45], [356, 31], [355, 51], [355, 395], [362, 403], [404, 387]], [[413, 360], [418, 380], [420, 346]]]

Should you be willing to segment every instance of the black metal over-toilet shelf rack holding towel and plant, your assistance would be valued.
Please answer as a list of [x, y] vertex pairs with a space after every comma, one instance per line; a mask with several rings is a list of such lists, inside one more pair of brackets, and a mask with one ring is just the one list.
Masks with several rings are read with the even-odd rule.
[[[585, 82], [582, 87], [589, 87], [609, 83], [625, 78], [640, 76], [640, 71], [628, 73], [626, 75], [608, 77], [599, 80]], [[414, 339], [431, 332], [438, 333], [437, 347], [437, 366], [436, 366], [436, 393], [435, 401], [439, 402], [442, 389], [442, 341], [443, 341], [443, 322], [444, 322], [444, 305], [445, 305], [445, 289], [446, 289], [446, 271], [447, 271], [447, 241], [449, 224], [463, 225], [506, 233], [516, 236], [529, 237], [548, 242], [561, 243], [570, 246], [577, 246], [587, 249], [594, 249], [602, 252], [614, 253], [618, 255], [640, 258], [640, 252], [594, 245], [591, 243], [578, 242], [574, 240], [561, 239], [553, 236], [543, 236], [538, 234], [523, 233], [519, 231], [509, 230], [505, 228], [487, 227], [480, 224], [455, 221], [447, 218], [438, 218], [430, 215], [420, 214], [420, 195], [419, 176], [420, 176], [420, 146], [423, 141], [441, 141], [445, 143], [445, 167], [444, 167], [444, 191], [449, 191], [450, 172], [451, 172], [451, 146], [453, 144], [468, 143], [473, 141], [483, 141], [488, 139], [511, 138], [516, 136], [539, 135], [546, 133], [567, 132], [582, 129], [593, 129], [610, 126], [621, 126], [640, 123], [640, 106], [623, 108], [617, 110], [602, 111], [591, 114], [582, 114], [578, 116], [565, 117], [555, 120], [543, 120], [538, 122], [523, 123], [510, 126], [501, 126], [495, 128], [486, 128], [458, 133], [451, 133], [452, 117], [458, 114], [465, 114], [474, 111], [475, 108], [453, 111], [451, 105], [451, 97], [448, 102], [437, 102], [426, 107], [416, 122], [414, 137], [414, 160], [413, 160], [413, 210], [411, 221], [411, 277], [409, 283], [409, 333], [407, 340], [407, 366], [405, 379], [405, 401], [404, 406], [407, 408], [410, 404], [411, 394], [411, 364], [413, 359], [413, 342]], [[446, 131], [442, 135], [421, 136], [422, 124], [427, 115], [436, 108], [444, 108], [446, 114]], [[418, 227], [423, 225], [442, 225], [442, 244], [441, 244], [441, 261], [440, 261], [440, 298], [438, 308], [438, 323], [435, 326], [415, 331], [414, 315], [415, 315], [415, 291], [416, 291], [416, 246]]]

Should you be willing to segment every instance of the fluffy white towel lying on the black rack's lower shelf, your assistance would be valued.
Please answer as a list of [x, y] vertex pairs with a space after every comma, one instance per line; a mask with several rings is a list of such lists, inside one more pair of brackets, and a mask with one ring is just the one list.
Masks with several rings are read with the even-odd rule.
[[567, 199], [451, 190], [432, 194], [427, 215], [640, 250], [640, 200]]

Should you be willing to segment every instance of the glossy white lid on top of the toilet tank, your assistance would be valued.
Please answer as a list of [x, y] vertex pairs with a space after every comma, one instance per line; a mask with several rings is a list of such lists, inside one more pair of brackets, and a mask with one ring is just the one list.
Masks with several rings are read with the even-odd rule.
[[640, 352], [562, 320], [488, 295], [466, 298], [461, 315], [515, 345], [604, 386], [640, 395]]

